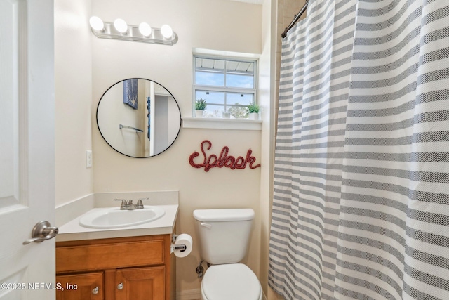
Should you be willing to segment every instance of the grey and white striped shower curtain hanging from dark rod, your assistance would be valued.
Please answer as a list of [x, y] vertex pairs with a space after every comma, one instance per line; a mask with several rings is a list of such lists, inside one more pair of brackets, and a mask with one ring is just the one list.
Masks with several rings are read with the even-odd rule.
[[283, 39], [269, 285], [449, 299], [449, 0], [310, 0]]

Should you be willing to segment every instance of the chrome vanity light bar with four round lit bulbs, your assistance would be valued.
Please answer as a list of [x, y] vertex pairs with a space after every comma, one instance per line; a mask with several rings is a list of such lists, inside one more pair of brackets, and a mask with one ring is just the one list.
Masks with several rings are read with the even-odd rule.
[[169, 25], [161, 28], [153, 28], [146, 22], [139, 26], [128, 25], [123, 19], [114, 22], [103, 22], [97, 16], [89, 20], [92, 33], [102, 39], [121, 39], [124, 41], [142, 41], [151, 44], [163, 44], [173, 46], [177, 43], [177, 34]]

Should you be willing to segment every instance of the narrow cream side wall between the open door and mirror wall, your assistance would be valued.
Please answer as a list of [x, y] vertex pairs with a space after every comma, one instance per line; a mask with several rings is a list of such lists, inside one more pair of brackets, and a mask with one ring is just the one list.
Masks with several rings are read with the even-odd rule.
[[[56, 205], [93, 193], [91, 0], [55, 1]], [[95, 123], [93, 123], [95, 124]]]

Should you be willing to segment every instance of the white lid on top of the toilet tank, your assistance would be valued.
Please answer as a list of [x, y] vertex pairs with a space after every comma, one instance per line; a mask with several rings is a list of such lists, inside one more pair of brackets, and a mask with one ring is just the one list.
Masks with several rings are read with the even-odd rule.
[[253, 209], [196, 209], [194, 218], [202, 222], [248, 221], [254, 219]]

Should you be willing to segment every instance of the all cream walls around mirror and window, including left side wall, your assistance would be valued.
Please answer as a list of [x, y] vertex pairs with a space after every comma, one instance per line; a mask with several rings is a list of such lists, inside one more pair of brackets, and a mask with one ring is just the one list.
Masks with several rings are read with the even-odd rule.
[[[194, 241], [194, 209], [251, 207], [256, 212], [255, 226], [250, 255], [243, 262], [260, 277], [266, 291], [267, 176], [272, 147], [269, 6], [271, 1], [266, 0], [262, 12], [260, 5], [226, 0], [55, 1], [57, 205], [93, 192], [179, 190], [177, 233], [189, 233]], [[91, 15], [105, 21], [121, 17], [133, 25], [146, 21], [161, 27], [168, 23], [179, 41], [175, 46], [162, 46], [98, 39], [88, 27]], [[262, 54], [262, 132], [181, 129], [171, 148], [147, 159], [126, 157], [109, 148], [98, 131], [95, 112], [102, 93], [122, 79], [141, 77], [162, 84], [177, 100], [182, 117], [192, 116], [192, 48]], [[204, 139], [212, 141], [209, 153], [214, 154], [225, 145], [235, 157], [250, 148], [262, 168], [215, 168], [207, 173], [194, 169], [188, 158], [192, 152], [200, 152]], [[93, 149], [93, 169], [86, 169], [88, 149]], [[178, 291], [200, 287], [195, 273], [201, 260], [197, 244], [191, 255], [177, 260]]]

